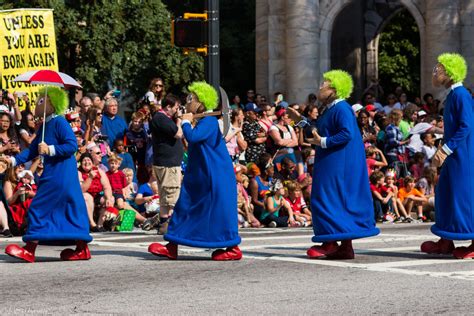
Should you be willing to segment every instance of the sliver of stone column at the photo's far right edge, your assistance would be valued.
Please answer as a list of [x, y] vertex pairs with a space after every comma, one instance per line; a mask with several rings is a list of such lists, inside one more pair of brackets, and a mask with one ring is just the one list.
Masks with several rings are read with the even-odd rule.
[[466, 58], [466, 87], [474, 91], [474, 0], [461, 0], [461, 54]]

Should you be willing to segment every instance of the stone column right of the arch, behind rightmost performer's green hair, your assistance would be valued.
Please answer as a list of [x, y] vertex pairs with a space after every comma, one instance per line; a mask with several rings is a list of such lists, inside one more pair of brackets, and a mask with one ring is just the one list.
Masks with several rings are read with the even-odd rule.
[[444, 89], [435, 89], [431, 85], [431, 77], [438, 55], [461, 53], [459, 0], [427, 0], [425, 6], [425, 63], [421, 71], [426, 80], [421, 90], [423, 93], [433, 92], [435, 98], [443, 100]]

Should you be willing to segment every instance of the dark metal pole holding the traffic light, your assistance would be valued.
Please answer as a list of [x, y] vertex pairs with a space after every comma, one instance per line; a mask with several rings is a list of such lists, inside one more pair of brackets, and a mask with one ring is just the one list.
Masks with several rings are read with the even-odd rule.
[[208, 14], [208, 55], [205, 60], [206, 81], [212, 85], [216, 91], [220, 86], [220, 65], [219, 65], [219, 0], [206, 0]]

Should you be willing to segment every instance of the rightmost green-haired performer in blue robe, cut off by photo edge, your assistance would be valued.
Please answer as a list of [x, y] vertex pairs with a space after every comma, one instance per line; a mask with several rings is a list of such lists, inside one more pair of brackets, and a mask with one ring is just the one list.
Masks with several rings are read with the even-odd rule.
[[[449, 89], [443, 114], [444, 144], [433, 157], [441, 173], [431, 231], [441, 239], [421, 245], [423, 252], [452, 253], [458, 259], [474, 258], [474, 102], [462, 85], [466, 74], [466, 61], [459, 54], [441, 54], [433, 69], [433, 85]], [[453, 240], [472, 243], [455, 248]]]

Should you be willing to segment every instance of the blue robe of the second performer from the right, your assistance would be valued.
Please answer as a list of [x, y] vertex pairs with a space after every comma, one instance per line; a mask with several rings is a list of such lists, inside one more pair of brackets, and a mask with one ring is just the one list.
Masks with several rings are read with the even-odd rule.
[[364, 144], [351, 106], [336, 102], [319, 117], [311, 191], [313, 242], [356, 239], [379, 234], [369, 187]]

